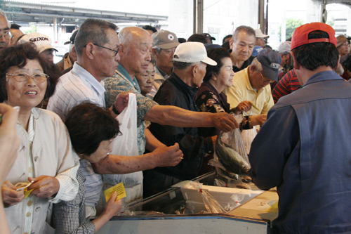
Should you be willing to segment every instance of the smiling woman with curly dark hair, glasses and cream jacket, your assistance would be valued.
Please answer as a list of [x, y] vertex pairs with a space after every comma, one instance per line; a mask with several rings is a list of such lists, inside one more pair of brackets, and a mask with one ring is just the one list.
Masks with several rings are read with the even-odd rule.
[[[11, 233], [53, 232], [46, 223], [51, 203], [72, 200], [77, 194], [79, 163], [65, 124], [53, 112], [35, 108], [53, 95], [57, 77], [33, 44], [0, 53], [0, 101], [20, 107], [18, 158], [1, 187]], [[29, 187], [19, 188], [28, 181]], [[26, 190], [32, 192], [28, 195]]]

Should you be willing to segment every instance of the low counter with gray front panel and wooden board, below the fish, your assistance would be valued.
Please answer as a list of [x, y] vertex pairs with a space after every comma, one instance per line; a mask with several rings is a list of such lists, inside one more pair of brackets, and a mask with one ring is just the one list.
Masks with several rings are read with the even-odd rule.
[[243, 203], [227, 214], [199, 214], [206, 210], [201, 195], [180, 185], [133, 204], [133, 216], [114, 216], [98, 233], [270, 233], [277, 218], [277, 192], [215, 187], [216, 177], [213, 171], [193, 181], [223, 205], [233, 192], [244, 194]]

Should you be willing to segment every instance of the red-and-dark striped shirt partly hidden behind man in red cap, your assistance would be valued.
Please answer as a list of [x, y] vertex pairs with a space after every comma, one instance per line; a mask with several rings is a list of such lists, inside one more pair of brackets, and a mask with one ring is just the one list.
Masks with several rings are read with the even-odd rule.
[[296, 91], [296, 89], [299, 89], [300, 86], [301, 85], [298, 82], [298, 76], [296, 75], [295, 69], [290, 70], [288, 73], [286, 73], [286, 75], [284, 75], [284, 77], [282, 77], [282, 79], [279, 79], [279, 82], [272, 90], [274, 103], [277, 103], [279, 98], [282, 98], [282, 96], [286, 96], [289, 93]]

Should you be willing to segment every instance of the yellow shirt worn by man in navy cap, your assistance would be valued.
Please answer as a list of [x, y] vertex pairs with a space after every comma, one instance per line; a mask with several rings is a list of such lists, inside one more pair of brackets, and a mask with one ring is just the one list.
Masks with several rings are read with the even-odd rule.
[[256, 105], [256, 108], [251, 108], [252, 115], [267, 114], [274, 105], [270, 85], [255, 91], [249, 80], [249, 67], [237, 72], [233, 77], [233, 84], [223, 91], [227, 94], [227, 101], [230, 103], [230, 109], [236, 108], [239, 103], [244, 100], [249, 100]]

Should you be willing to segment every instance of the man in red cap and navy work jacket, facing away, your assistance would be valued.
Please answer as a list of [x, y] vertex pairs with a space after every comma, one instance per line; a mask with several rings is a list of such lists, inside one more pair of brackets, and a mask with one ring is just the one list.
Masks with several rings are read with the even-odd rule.
[[279, 233], [351, 233], [351, 84], [334, 72], [336, 41], [322, 22], [295, 30], [302, 88], [279, 99], [251, 145], [253, 182], [277, 186]]

